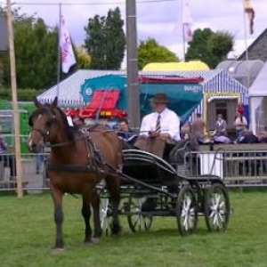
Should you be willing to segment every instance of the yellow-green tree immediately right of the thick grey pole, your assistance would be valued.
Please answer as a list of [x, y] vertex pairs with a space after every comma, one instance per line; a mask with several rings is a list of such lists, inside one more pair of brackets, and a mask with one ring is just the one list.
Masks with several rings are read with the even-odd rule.
[[141, 41], [138, 46], [138, 69], [143, 69], [151, 62], [178, 62], [175, 53], [169, 51], [165, 46], [159, 45], [153, 38]]

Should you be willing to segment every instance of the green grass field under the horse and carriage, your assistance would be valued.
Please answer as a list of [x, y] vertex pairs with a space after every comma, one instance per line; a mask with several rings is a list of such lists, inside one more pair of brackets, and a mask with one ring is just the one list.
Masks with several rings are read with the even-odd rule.
[[150, 232], [132, 233], [124, 217], [122, 237], [101, 238], [84, 247], [81, 199], [64, 197], [65, 250], [51, 253], [54, 243], [53, 203], [49, 194], [22, 199], [0, 195], [1, 267], [266, 267], [267, 192], [231, 191], [234, 210], [224, 233], [209, 233], [204, 218], [198, 232], [182, 238], [175, 218], [154, 218]]

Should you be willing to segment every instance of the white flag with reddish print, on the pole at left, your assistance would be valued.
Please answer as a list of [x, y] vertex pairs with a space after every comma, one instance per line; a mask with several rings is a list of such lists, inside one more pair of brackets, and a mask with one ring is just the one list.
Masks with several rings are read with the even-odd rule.
[[63, 16], [61, 16], [60, 45], [61, 45], [61, 68], [64, 73], [68, 73], [69, 68], [76, 63], [76, 59], [73, 53], [69, 31], [68, 28], [66, 27], [66, 22]]

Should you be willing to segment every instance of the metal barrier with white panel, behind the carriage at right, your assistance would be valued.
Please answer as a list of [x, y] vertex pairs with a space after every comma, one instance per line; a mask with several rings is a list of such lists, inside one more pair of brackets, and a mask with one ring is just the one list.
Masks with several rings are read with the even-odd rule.
[[[186, 155], [188, 176], [215, 174], [228, 187], [267, 186], [267, 150], [202, 150]], [[194, 160], [192, 160], [193, 158]]]

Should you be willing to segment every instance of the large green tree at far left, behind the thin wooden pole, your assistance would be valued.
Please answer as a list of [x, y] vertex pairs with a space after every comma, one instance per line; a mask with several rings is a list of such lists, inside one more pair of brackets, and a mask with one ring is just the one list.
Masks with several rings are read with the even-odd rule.
[[[2, 10], [2, 12], [4, 12]], [[18, 88], [43, 89], [57, 80], [57, 28], [44, 20], [12, 10]], [[9, 53], [1, 55], [3, 84], [10, 85]]]

